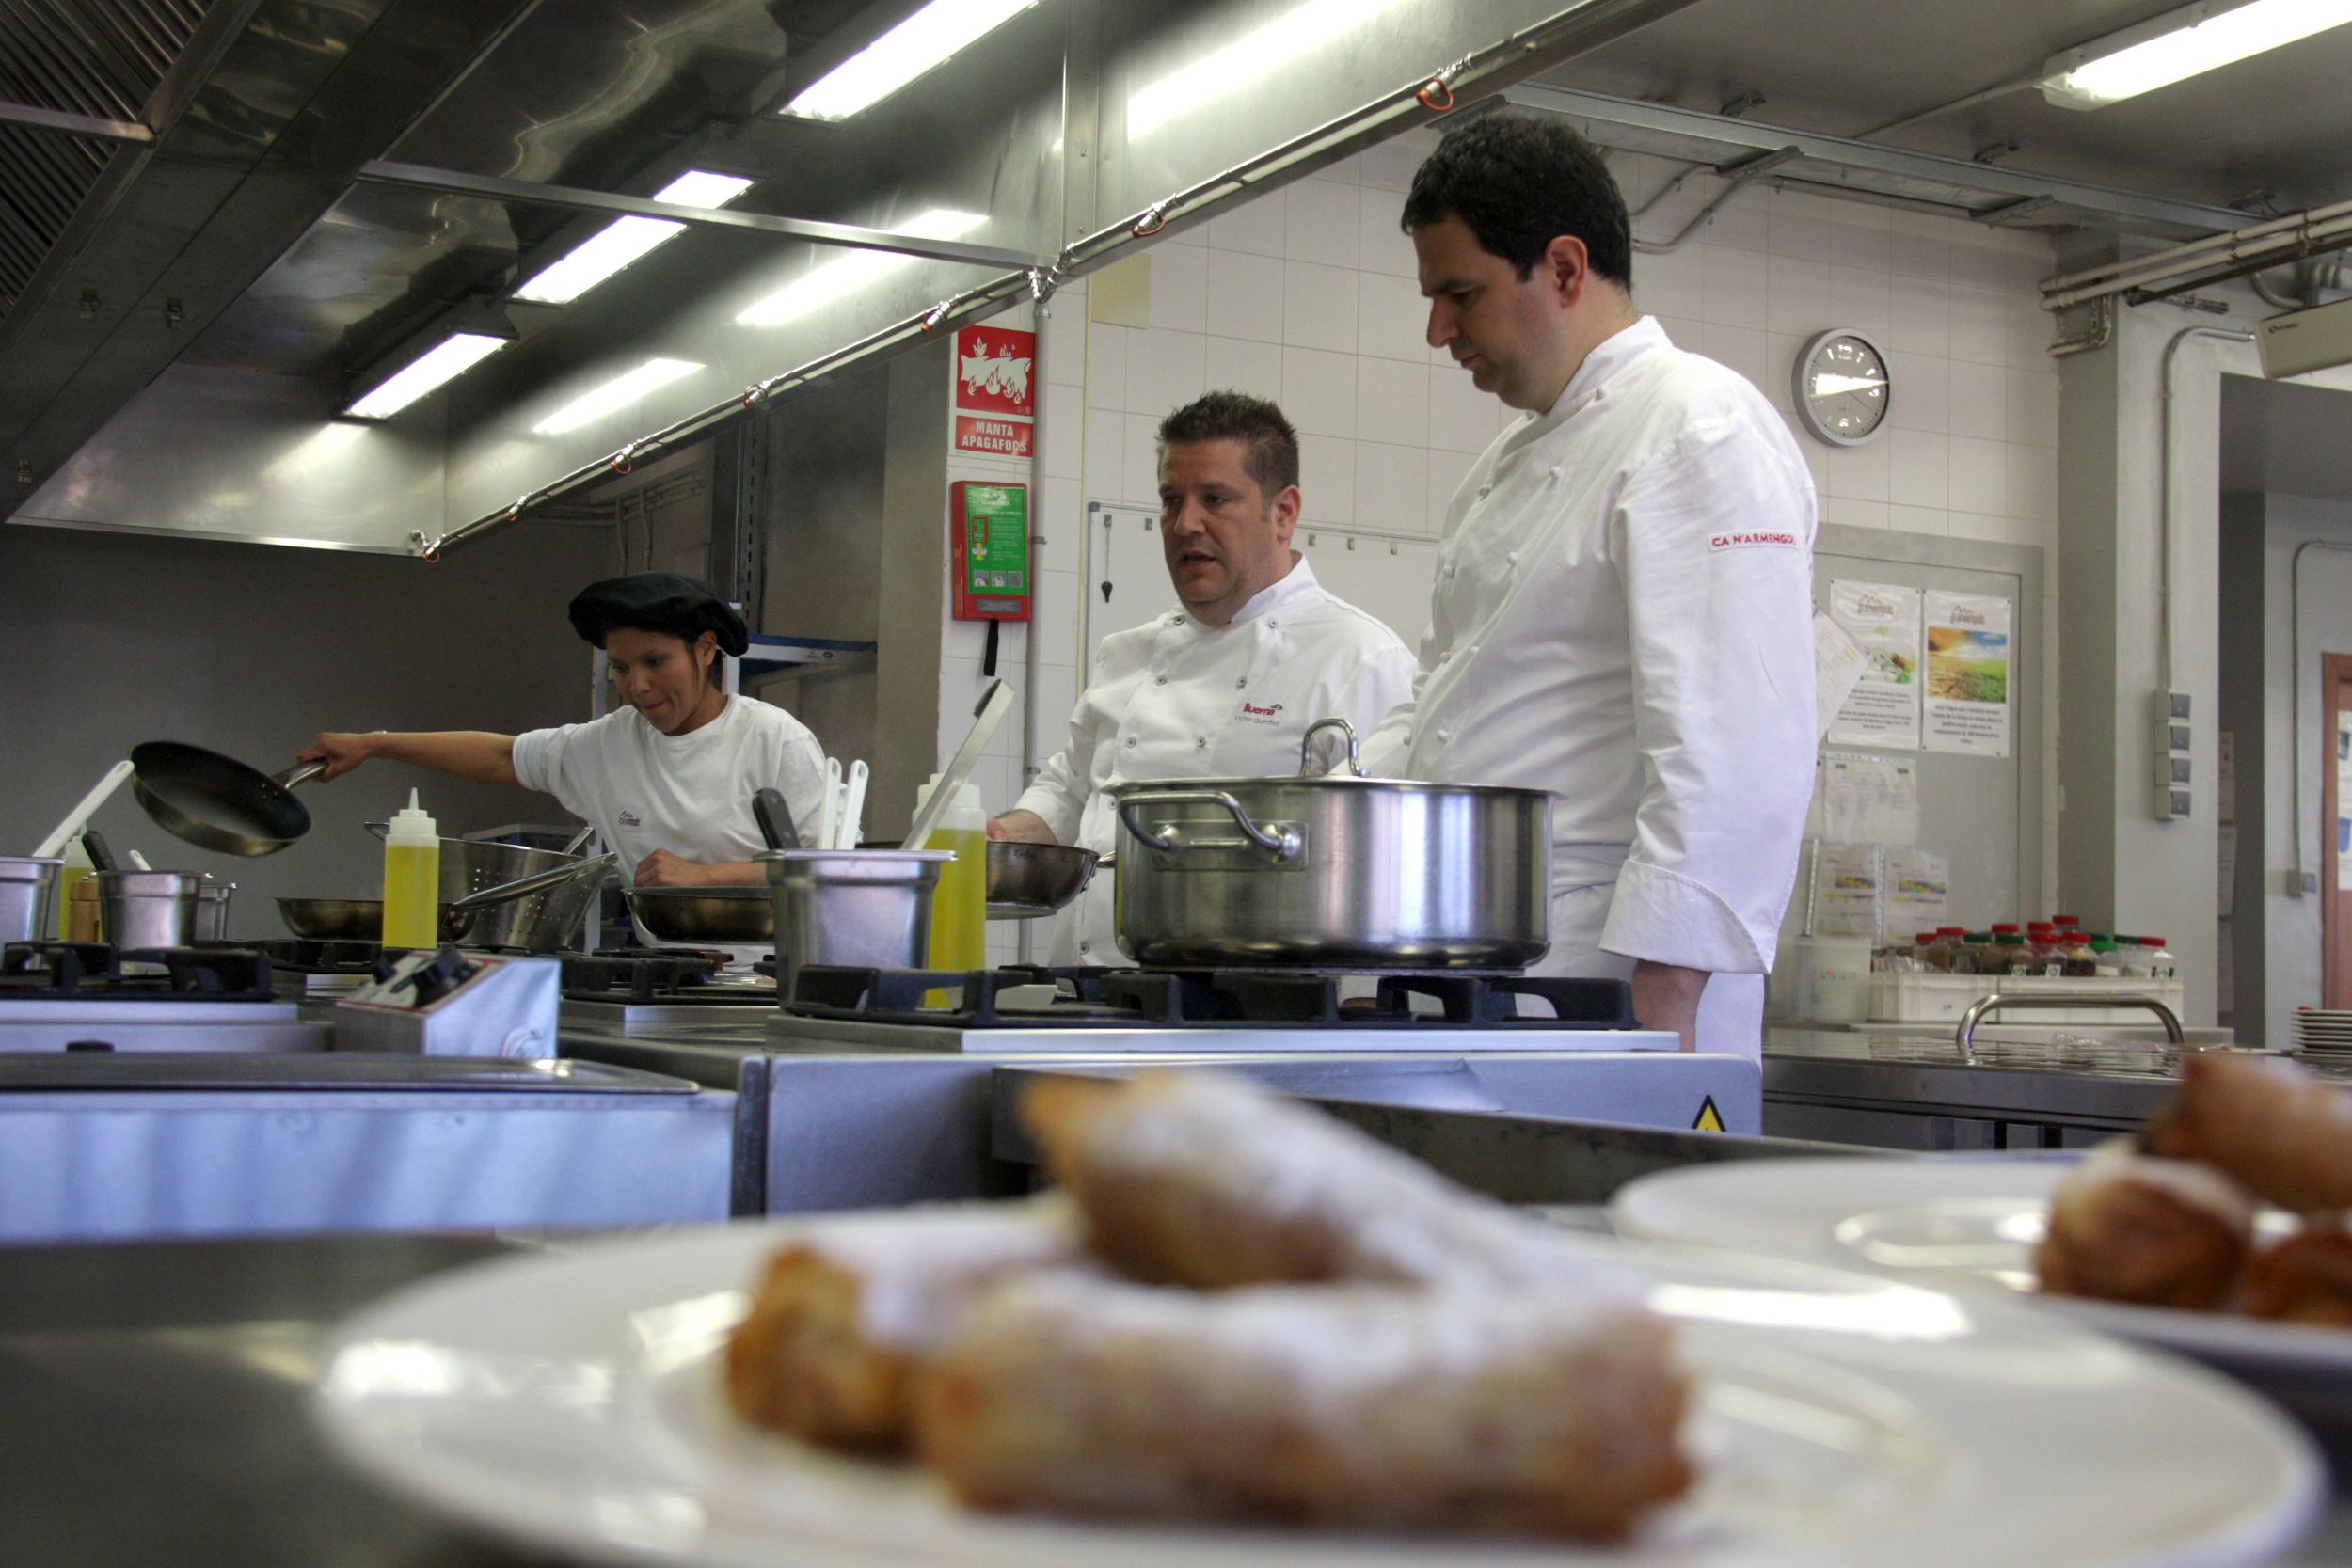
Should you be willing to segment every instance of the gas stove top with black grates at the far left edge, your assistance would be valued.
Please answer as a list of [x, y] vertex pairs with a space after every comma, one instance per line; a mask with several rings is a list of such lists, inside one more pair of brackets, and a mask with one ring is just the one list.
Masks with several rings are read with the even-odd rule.
[[282, 999], [249, 947], [12, 943], [0, 950], [0, 1056], [52, 1051], [303, 1053], [327, 1030]]

